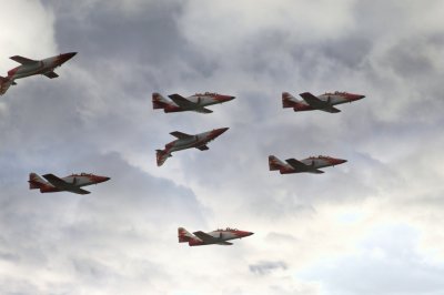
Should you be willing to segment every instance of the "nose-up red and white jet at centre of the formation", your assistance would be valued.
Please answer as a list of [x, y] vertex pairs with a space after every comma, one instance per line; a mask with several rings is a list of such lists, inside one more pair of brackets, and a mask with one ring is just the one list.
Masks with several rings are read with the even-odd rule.
[[229, 130], [229, 128], [220, 128], [195, 135], [190, 135], [179, 131], [171, 132], [170, 134], [178, 138], [178, 140], [168, 143], [164, 150], [155, 150], [158, 166], [161, 166], [168, 157], [172, 156], [172, 152], [191, 148], [195, 148], [201, 151], [209, 150], [210, 148], [206, 146], [206, 143], [214, 140], [226, 130]]

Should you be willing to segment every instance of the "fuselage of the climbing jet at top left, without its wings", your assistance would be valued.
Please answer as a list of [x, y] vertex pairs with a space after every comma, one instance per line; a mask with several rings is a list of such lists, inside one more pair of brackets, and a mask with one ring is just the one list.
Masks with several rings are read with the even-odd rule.
[[57, 57], [48, 58], [40, 61], [33, 61], [19, 65], [8, 71], [8, 79], [11, 81], [22, 79], [34, 74], [44, 74], [53, 71], [57, 67], [62, 65], [69, 59], [75, 55], [75, 52], [63, 53]]

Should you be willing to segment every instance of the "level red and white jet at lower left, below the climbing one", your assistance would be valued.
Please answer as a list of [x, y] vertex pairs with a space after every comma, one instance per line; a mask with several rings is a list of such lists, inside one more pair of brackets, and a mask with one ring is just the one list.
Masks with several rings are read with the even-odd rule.
[[[47, 181], [44, 181], [46, 179]], [[101, 182], [109, 181], [110, 177], [99, 176], [94, 174], [80, 173], [71, 174], [67, 177], [60, 179], [54, 174], [44, 174], [43, 179], [36, 173], [29, 174], [29, 189], [40, 189], [41, 193], [53, 193], [53, 192], [71, 192], [75, 194], [89, 194], [90, 192], [80, 189], [91, 184], [98, 184]]]

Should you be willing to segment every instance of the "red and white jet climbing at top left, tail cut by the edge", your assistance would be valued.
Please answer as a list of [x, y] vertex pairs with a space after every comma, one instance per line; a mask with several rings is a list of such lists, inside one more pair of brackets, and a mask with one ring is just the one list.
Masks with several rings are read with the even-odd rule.
[[34, 74], [44, 74], [49, 79], [58, 78], [59, 75], [54, 73], [54, 69], [75, 54], [77, 52], [62, 53], [44, 60], [31, 60], [20, 55], [11, 57], [11, 60], [21, 63], [21, 65], [8, 71], [8, 77], [0, 77], [0, 95], [4, 94], [10, 85], [17, 85], [14, 81], [17, 79]]

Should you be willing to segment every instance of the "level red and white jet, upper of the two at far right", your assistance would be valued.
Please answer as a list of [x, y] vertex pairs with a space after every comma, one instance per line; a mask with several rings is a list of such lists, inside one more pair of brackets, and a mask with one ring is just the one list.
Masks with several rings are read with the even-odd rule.
[[297, 100], [289, 92], [282, 92], [282, 106], [293, 108], [295, 112], [321, 110], [329, 113], [339, 113], [341, 110], [334, 108], [333, 105], [353, 102], [365, 98], [365, 95], [339, 91], [333, 93], [324, 93], [319, 96], [315, 96], [310, 92], [304, 92], [300, 95], [303, 100]]

